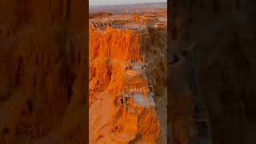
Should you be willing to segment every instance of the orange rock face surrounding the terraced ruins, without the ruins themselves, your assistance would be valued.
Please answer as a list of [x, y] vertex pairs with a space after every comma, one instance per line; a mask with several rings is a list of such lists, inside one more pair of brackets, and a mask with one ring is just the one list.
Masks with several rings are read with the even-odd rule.
[[[152, 34], [152, 35], [150, 35]], [[159, 34], [159, 35], [158, 35]], [[132, 106], [126, 113], [118, 106], [116, 95], [122, 93], [125, 81], [124, 68], [130, 59], [138, 61], [142, 56], [148, 58], [150, 74], [156, 87], [158, 98], [165, 97], [166, 83], [166, 42], [158, 30], [138, 34], [135, 30], [90, 29], [90, 142], [91, 143], [129, 143], [163, 141], [162, 123], [156, 108]], [[158, 37], [159, 36], [159, 37]], [[150, 57], [154, 61], [150, 61]], [[159, 55], [157, 55], [159, 54]], [[153, 59], [152, 59], [153, 60]], [[155, 63], [157, 62], [157, 63]], [[158, 66], [156, 66], [157, 64]], [[155, 66], [154, 66], [155, 65]], [[163, 67], [162, 67], [163, 66]], [[163, 70], [161, 74], [158, 72]], [[157, 98], [157, 99], [158, 99]], [[156, 102], [158, 105], [158, 102]], [[118, 111], [116, 111], [118, 109]], [[136, 111], [136, 113], [134, 113]], [[161, 120], [160, 120], [161, 119]]]

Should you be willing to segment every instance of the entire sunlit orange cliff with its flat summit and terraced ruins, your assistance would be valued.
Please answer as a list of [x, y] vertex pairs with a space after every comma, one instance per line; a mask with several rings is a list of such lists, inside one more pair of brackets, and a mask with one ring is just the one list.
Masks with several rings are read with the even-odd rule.
[[146, 16], [90, 19], [90, 143], [166, 142], [166, 22]]

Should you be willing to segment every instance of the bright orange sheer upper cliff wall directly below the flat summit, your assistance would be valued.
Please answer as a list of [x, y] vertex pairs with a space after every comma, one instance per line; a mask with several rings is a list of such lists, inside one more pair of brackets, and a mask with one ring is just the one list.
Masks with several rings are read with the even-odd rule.
[[90, 60], [108, 57], [110, 60], [117, 59], [128, 62], [131, 58], [140, 58], [141, 46], [146, 45], [143, 39], [133, 30], [90, 30]]

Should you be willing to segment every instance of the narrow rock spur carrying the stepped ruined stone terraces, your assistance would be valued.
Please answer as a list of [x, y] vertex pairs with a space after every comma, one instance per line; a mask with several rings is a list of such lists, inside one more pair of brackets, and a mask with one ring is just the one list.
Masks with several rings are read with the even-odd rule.
[[[143, 61], [130, 62], [130, 65], [125, 69], [126, 72], [123, 75], [124, 89], [116, 97], [113, 130], [115, 142], [131, 142], [140, 137], [139, 123], [145, 121], [144, 116], [148, 112], [152, 113], [155, 110], [154, 90], [147, 74], [147, 66]], [[159, 127], [158, 123], [154, 123], [154, 126]], [[159, 134], [159, 129], [155, 131], [155, 134]], [[155, 139], [151, 139], [147, 142], [154, 141]]]

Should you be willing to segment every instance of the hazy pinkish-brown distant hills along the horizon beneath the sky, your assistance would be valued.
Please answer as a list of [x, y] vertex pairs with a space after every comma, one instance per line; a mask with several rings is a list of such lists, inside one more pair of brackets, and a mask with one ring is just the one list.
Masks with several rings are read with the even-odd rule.
[[90, 6], [90, 13], [108, 12], [114, 14], [147, 13], [167, 9], [167, 2]]

